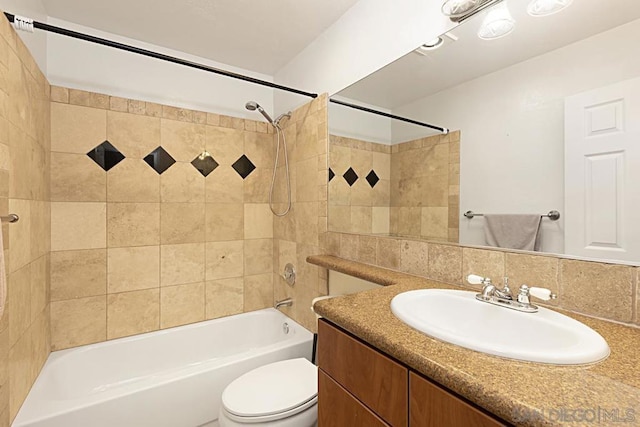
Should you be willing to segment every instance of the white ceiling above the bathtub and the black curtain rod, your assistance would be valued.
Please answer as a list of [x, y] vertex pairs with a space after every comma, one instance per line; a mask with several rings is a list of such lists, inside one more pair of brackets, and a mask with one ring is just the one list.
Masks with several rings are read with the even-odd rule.
[[358, 0], [41, 0], [51, 17], [274, 75]]

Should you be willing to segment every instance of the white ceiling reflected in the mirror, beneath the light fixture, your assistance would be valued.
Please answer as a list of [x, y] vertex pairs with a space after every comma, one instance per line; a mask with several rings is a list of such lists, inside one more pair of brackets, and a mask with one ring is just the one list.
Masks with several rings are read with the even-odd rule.
[[354, 83], [339, 97], [393, 110], [447, 88], [640, 19], [638, 0], [577, 0], [566, 10], [533, 18], [529, 0], [507, 0], [515, 30], [485, 41], [476, 33], [486, 12], [450, 31], [445, 44], [422, 56], [414, 52]]

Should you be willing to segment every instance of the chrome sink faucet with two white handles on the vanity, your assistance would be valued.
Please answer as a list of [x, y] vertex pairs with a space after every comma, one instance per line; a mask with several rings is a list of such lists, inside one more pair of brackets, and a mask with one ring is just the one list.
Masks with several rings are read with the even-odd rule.
[[502, 289], [498, 289], [491, 283], [490, 278], [477, 276], [475, 274], [467, 276], [467, 282], [472, 285], [482, 285], [482, 291], [476, 295], [478, 301], [488, 302], [489, 304], [523, 311], [525, 313], [535, 313], [538, 311], [538, 306], [531, 304], [531, 296], [544, 301], [557, 298], [556, 294], [551, 293], [549, 289], [522, 285], [520, 286], [516, 300], [514, 300], [507, 277], [504, 278], [504, 287]]

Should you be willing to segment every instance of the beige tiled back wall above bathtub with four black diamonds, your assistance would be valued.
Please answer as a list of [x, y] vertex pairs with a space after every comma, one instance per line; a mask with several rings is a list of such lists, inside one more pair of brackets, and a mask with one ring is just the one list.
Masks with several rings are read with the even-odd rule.
[[[272, 306], [266, 123], [61, 87], [51, 98], [53, 350]], [[117, 152], [96, 149], [105, 141]], [[206, 177], [192, 164], [204, 151]]]

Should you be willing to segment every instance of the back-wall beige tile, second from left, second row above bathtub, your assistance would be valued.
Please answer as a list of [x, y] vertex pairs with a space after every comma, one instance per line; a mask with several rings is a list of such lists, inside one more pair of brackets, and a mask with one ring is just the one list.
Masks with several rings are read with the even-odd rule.
[[110, 248], [108, 293], [137, 291], [160, 286], [160, 247]]

